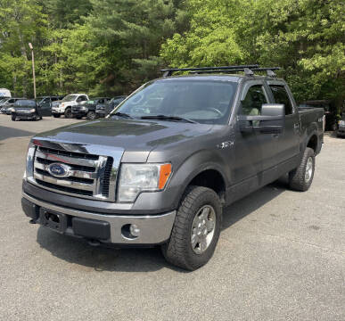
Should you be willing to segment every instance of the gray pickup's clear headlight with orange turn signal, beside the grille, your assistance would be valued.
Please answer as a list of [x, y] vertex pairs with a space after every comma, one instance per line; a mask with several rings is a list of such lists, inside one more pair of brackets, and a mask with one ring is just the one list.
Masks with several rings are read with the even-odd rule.
[[161, 191], [171, 175], [171, 164], [122, 164], [119, 173], [119, 202], [134, 202], [146, 191]]

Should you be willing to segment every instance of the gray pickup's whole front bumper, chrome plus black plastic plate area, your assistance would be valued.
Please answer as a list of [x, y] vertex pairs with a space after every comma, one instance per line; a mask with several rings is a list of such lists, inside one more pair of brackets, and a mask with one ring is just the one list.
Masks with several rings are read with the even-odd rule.
[[[22, 209], [33, 223], [52, 228], [64, 235], [97, 240], [101, 243], [153, 245], [165, 243], [171, 234], [176, 211], [160, 215], [116, 215], [73, 210], [38, 200], [27, 193], [22, 194]], [[59, 226], [47, 222], [46, 213], [57, 215]], [[56, 223], [56, 222], [55, 222]], [[140, 229], [137, 237], [128, 235], [128, 226]]]

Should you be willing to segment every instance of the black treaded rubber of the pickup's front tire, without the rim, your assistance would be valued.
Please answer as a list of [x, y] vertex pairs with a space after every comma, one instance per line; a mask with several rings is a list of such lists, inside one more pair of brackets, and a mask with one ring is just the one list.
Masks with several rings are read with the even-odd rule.
[[[214, 234], [205, 251], [197, 254], [192, 246], [193, 220], [205, 205], [215, 212]], [[218, 194], [207, 187], [190, 186], [187, 188], [171, 232], [168, 243], [161, 245], [165, 259], [169, 263], [187, 270], [195, 270], [205, 265], [216, 249], [222, 222], [222, 205]]]

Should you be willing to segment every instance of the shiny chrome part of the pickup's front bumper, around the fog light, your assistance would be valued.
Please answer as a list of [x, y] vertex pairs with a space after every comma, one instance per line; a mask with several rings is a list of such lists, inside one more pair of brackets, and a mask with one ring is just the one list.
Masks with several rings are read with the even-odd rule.
[[[89, 218], [108, 222], [111, 226], [111, 243], [116, 244], [159, 244], [168, 240], [174, 225], [176, 210], [161, 215], [105, 215], [83, 210], [63, 208], [48, 202], [37, 200], [27, 193], [22, 193], [23, 198], [36, 204], [45, 210], [53, 210], [71, 217]], [[136, 238], [128, 238], [122, 235], [122, 226], [135, 224], [140, 229], [140, 235]]]

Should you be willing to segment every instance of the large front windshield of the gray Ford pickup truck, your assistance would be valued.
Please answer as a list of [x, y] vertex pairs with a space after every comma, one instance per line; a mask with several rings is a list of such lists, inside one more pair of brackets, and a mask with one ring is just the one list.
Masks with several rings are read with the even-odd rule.
[[112, 111], [132, 118], [166, 115], [205, 124], [226, 124], [237, 83], [214, 80], [157, 80]]

